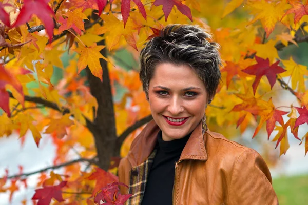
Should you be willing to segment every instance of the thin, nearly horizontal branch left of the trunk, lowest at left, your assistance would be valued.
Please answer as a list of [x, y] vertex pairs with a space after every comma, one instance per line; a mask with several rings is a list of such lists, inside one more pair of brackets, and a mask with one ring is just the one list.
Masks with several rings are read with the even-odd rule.
[[82, 162], [82, 161], [86, 161], [86, 162], [89, 162], [89, 163], [96, 165], [97, 163], [95, 162], [95, 158], [96, 158], [96, 156], [93, 157], [92, 159], [79, 158], [79, 159], [75, 159], [75, 160], [72, 160], [72, 161], [67, 161], [65, 163], [61, 163], [60, 165], [46, 167], [44, 169], [37, 170], [37, 171], [34, 171], [34, 172], [28, 172], [28, 173], [24, 173], [24, 174], [16, 174], [16, 175], [8, 176], [7, 178], [12, 179], [12, 178], [19, 178], [19, 177], [27, 177], [27, 176], [30, 176], [30, 175], [33, 175], [33, 174], [45, 172], [45, 171], [50, 170], [50, 169], [55, 170], [55, 169], [59, 169], [59, 168], [65, 167], [65, 166], [72, 165], [73, 163]]

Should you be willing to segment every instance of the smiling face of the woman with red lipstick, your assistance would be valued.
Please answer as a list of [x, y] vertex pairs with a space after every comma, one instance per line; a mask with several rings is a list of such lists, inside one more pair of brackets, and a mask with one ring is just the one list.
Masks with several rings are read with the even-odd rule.
[[180, 139], [194, 130], [206, 108], [203, 81], [187, 65], [159, 64], [150, 79], [152, 116], [162, 130], [163, 140]]

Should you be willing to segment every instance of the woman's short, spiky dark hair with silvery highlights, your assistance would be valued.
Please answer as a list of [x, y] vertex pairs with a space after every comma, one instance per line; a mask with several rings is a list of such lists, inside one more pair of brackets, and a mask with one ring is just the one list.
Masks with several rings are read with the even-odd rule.
[[196, 25], [171, 24], [145, 43], [140, 52], [140, 73], [148, 98], [149, 83], [156, 66], [162, 63], [188, 65], [204, 82], [212, 99], [221, 80], [219, 45], [209, 42], [211, 35]]

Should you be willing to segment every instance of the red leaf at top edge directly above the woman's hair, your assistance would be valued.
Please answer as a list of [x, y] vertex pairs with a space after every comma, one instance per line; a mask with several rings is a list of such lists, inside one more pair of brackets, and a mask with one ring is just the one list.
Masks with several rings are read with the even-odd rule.
[[163, 5], [163, 12], [165, 14], [165, 20], [167, 21], [168, 16], [171, 12], [172, 7], [175, 5], [177, 6], [178, 10], [186, 15], [192, 22], [192, 15], [191, 15], [191, 11], [190, 8], [184, 4], [182, 4], [182, 2], [178, 1], [178, 0], [155, 0], [155, 2], [153, 2], [153, 5], [155, 6], [160, 6]]

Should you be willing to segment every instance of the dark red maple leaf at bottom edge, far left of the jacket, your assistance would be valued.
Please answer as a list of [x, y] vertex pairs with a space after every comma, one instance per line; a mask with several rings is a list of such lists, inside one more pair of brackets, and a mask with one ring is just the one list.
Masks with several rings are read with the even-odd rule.
[[44, 186], [41, 189], [36, 189], [32, 200], [38, 200], [37, 205], [50, 204], [51, 199], [54, 198], [58, 202], [64, 201], [62, 197], [61, 188], [66, 185], [67, 181], [62, 181], [57, 186]]

